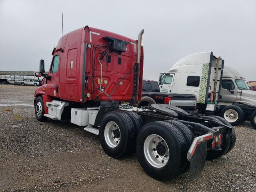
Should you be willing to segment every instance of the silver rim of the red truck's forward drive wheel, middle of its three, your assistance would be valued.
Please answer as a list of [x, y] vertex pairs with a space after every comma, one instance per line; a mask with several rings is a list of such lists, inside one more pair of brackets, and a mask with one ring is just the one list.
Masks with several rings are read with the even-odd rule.
[[118, 146], [121, 139], [121, 133], [118, 125], [114, 121], [110, 121], [106, 124], [104, 130], [105, 141], [111, 148]]

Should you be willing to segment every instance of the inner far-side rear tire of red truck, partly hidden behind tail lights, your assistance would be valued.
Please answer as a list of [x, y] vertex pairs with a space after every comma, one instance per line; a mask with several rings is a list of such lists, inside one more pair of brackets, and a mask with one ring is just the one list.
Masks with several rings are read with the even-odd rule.
[[[206, 120], [207, 119], [213, 120], [213, 121], [222, 123], [221, 120], [219, 120], [218, 118], [216, 118], [214, 116], [202, 116], [200, 118], [204, 118]], [[217, 158], [223, 156], [224, 154], [226, 154], [230, 148], [230, 143], [231, 143], [230, 136], [223, 134], [222, 139], [221, 139], [221, 144], [220, 144], [220, 148], [222, 150], [212, 150], [212, 149], [208, 150], [207, 155], [206, 155], [206, 160], [217, 159]]]

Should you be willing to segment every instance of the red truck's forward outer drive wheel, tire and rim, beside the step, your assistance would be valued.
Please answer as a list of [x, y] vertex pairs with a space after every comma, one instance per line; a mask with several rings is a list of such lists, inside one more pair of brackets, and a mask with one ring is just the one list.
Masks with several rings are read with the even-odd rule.
[[134, 126], [124, 112], [108, 112], [100, 124], [100, 144], [113, 157], [126, 156], [135, 148]]

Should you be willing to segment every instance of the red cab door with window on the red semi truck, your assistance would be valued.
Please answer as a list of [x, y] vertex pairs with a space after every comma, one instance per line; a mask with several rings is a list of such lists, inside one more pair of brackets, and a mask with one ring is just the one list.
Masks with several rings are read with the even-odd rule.
[[56, 54], [52, 58], [50, 71], [48, 72], [48, 79], [46, 84], [46, 94], [53, 97], [59, 97], [59, 83], [60, 83], [60, 55]]

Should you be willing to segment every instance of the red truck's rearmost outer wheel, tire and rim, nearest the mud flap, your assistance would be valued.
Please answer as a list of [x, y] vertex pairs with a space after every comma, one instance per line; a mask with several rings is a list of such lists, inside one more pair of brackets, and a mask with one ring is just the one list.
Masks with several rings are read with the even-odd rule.
[[186, 160], [186, 142], [182, 133], [164, 121], [144, 125], [136, 140], [136, 153], [144, 171], [156, 180], [177, 175]]

